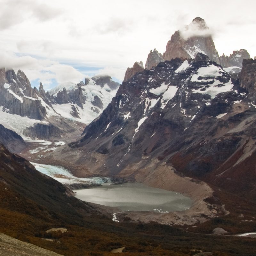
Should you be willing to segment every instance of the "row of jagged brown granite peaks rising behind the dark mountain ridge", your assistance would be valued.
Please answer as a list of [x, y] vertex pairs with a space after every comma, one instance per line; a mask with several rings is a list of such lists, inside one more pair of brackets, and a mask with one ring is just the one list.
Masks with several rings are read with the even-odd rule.
[[[163, 55], [156, 49], [153, 52], [150, 51], [145, 68], [151, 69], [160, 62], [175, 58], [182, 60], [195, 59], [197, 53], [207, 55], [210, 60], [220, 64], [223, 68], [227, 68], [226, 71], [230, 74], [239, 73], [243, 60], [250, 58], [249, 53], [244, 49], [234, 51], [229, 57], [224, 54], [219, 57], [212, 40], [210, 28], [207, 26], [205, 20], [196, 17], [189, 25], [175, 31], [168, 41]], [[138, 62], [135, 62], [132, 68], [127, 68], [124, 82], [137, 72], [141, 72], [143, 70], [142, 68], [143, 66], [138, 68]]]

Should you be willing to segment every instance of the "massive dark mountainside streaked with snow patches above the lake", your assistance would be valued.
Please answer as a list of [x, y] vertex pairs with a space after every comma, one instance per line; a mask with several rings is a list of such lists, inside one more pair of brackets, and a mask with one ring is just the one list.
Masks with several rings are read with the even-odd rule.
[[[256, 182], [256, 110], [248, 93], [255, 90], [254, 72], [255, 61], [244, 60], [232, 83], [231, 75], [202, 53], [193, 61], [161, 62], [124, 82], [69, 147], [83, 150], [77, 151], [77, 163], [104, 154], [97, 168], [112, 175], [156, 158], [229, 191], [251, 189]], [[241, 180], [246, 175], [250, 185]]]

